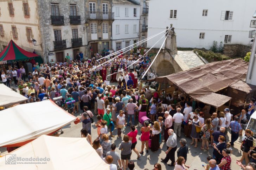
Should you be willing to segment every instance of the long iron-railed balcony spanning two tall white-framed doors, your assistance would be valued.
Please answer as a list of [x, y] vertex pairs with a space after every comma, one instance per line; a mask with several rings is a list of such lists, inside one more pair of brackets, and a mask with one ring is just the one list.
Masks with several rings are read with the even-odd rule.
[[87, 18], [90, 20], [114, 20], [114, 12], [86, 12]]

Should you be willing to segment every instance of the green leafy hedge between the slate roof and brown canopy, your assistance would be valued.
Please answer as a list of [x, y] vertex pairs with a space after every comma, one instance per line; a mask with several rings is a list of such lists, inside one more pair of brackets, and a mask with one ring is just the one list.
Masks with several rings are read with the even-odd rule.
[[204, 57], [208, 62], [230, 60], [231, 59], [230, 57], [228, 57], [226, 55], [223, 55], [223, 54], [220, 54], [220, 53], [214, 53], [213, 51], [202, 51], [202, 50], [195, 49], [194, 53], [196, 53], [196, 52], [201, 57]]

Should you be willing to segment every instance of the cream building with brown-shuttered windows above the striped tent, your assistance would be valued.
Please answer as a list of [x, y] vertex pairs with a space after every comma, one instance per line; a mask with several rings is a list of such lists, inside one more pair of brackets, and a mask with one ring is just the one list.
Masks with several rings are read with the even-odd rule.
[[36, 0], [0, 1], [0, 51], [13, 40], [21, 48], [43, 56], [41, 46], [34, 46], [33, 39], [41, 42]]

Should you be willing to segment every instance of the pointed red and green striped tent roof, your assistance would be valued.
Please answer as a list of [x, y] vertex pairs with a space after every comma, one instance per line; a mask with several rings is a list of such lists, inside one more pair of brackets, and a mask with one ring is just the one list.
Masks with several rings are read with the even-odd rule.
[[5, 49], [0, 53], [0, 61], [27, 61], [38, 56], [38, 54], [34, 54], [20, 48], [11, 40], [8, 46], [6, 46]]

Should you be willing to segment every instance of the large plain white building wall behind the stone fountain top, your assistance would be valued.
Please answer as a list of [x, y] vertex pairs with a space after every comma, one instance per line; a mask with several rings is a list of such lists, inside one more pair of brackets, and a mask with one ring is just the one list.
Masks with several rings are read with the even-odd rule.
[[[250, 45], [249, 25], [256, 1], [148, 0], [148, 37], [173, 24], [177, 47], [206, 48], [213, 41]], [[153, 46], [162, 35], [147, 42]], [[160, 48], [162, 42], [156, 44]]]

